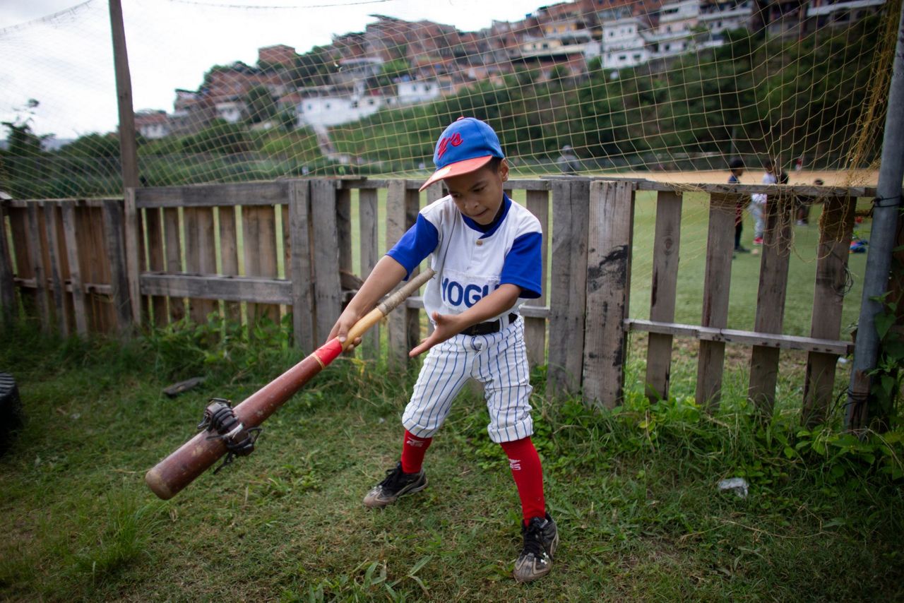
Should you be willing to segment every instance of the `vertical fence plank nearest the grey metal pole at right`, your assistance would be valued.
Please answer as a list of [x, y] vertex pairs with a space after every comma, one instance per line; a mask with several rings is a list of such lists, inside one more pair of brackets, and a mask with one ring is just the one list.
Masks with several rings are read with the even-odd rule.
[[[857, 200], [825, 200], [819, 221], [816, 278], [810, 336], [837, 339], [841, 334], [847, 264]], [[833, 402], [838, 353], [811, 352], [806, 359], [801, 422], [813, 427], [828, 418]]]

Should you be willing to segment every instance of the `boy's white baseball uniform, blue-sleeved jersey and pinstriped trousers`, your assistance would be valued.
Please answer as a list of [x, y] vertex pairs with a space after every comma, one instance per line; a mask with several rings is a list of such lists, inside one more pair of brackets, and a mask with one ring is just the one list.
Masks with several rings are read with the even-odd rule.
[[[464, 335], [430, 349], [415, 384], [402, 424], [420, 438], [430, 438], [446, 419], [452, 400], [474, 378], [485, 385], [494, 442], [526, 438], [533, 433], [532, 391], [524, 347], [522, 320], [508, 323], [525, 299], [540, 297], [542, 231], [540, 221], [504, 197], [502, 214], [482, 226], [458, 211], [451, 196], [430, 203], [417, 223], [388, 255], [408, 270], [430, 255], [437, 277], [424, 294], [428, 316], [460, 314], [505, 283], [521, 287], [515, 306], [496, 318], [500, 332]], [[406, 277], [407, 278], [407, 277]]]

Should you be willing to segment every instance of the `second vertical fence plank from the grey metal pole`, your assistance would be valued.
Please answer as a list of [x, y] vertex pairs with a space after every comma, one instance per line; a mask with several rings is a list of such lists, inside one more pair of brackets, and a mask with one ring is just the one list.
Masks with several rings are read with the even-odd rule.
[[[781, 333], [785, 320], [788, 259], [791, 255], [791, 221], [796, 206], [784, 195], [770, 196], [764, 216], [763, 255], [759, 263], [757, 316], [758, 333]], [[778, 350], [755, 345], [750, 353], [750, 382], [747, 395], [760, 414], [772, 416], [778, 382]]]

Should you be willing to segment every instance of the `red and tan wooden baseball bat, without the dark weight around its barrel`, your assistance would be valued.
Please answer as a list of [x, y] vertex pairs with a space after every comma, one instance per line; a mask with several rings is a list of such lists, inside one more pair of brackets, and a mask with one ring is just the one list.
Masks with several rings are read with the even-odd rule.
[[[345, 339], [345, 344], [340, 343], [336, 338], [331, 339], [287, 372], [255, 391], [233, 409], [236, 419], [241, 422], [246, 431], [258, 427], [306, 382], [321, 372], [327, 364], [332, 363], [344, 350], [352, 347], [352, 343], [357, 337], [362, 336], [373, 325], [380, 322], [383, 316], [388, 315], [393, 308], [399, 306], [421, 285], [433, 278], [434, 274], [436, 272], [428, 269], [412, 278], [391, 296], [386, 297], [379, 306], [373, 308], [352, 326]], [[155, 495], [169, 500], [226, 454], [226, 443], [221, 438], [210, 438], [210, 436], [209, 431], [199, 432], [147, 472], [145, 483]]]

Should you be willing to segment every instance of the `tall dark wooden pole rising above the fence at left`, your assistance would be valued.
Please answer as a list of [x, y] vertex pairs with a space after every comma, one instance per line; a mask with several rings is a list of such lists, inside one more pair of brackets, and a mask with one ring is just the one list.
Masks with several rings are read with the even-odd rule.
[[132, 77], [128, 72], [126, 30], [122, 24], [122, 5], [109, 0], [110, 29], [113, 33], [113, 64], [119, 106], [119, 155], [122, 160], [123, 191], [138, 185], [138, 146], [135, 140], [135, 113], [132, 108]]

